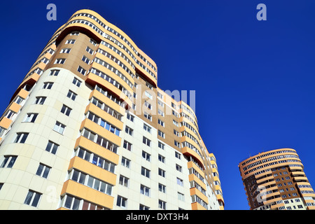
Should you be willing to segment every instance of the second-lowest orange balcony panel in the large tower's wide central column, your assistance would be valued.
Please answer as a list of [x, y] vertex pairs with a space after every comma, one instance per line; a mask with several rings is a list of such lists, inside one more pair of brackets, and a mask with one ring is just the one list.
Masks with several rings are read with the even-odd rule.
[[111, 185], [116, 185], [116, 174], [113, 174], [106, 169], [102, 169], [97, 165], [94, 165], [86, 160], [83, 160], [77, 156], [73, 157], [69, 163], [69, 169], [76, 168], [79, 169], [81, 172], [86, 174], [90, 174], [101, 181], [106, 183], [110, 183]]

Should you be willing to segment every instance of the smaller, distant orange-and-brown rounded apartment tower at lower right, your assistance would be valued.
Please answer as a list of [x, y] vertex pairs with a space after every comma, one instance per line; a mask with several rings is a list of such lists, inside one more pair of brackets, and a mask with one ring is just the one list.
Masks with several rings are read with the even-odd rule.
[[239, 163], [251, 210], [315, 209], [315, 193], [296, 151], [281, 148]]

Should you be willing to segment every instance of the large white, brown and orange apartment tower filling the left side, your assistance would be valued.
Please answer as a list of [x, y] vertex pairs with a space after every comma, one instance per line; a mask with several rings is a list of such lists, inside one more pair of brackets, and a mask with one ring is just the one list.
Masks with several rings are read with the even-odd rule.
[[127, 34], [74, 13], [1, 116], [0, 209], [223, 208], [193, 109]]

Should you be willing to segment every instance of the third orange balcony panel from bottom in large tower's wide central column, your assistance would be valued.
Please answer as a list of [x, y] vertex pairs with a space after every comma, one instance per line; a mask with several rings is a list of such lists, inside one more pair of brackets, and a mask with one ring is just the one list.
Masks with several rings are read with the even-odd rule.
[[82, 146], [83, 148], [86, 148], [88, 151], [95, 153], [99, 155], [100, 157], [109, 160], [110, 162], [113, 162], [114, 164], [118, 165], [119, 162], [119, 155], [116, 153], [113, 153], [112, 151], [109, 151], [108, 149], [99, 146], [98, 144], [94, 143], [93, 141], [86, 139], [83, 136], [80, 136], [76, 140], [75, 148], [78, 146]]

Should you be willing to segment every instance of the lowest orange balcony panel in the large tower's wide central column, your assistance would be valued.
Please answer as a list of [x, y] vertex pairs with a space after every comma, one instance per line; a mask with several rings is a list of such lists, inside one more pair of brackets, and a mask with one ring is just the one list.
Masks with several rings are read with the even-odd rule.
[[112, 196], [84, 186], [83, 184], [76, 183], [75, 181], [68, 180], [64, 183], [61, 195], [66, 193], [99, 204], [102, 207], [113, 209], [114, 198]]

